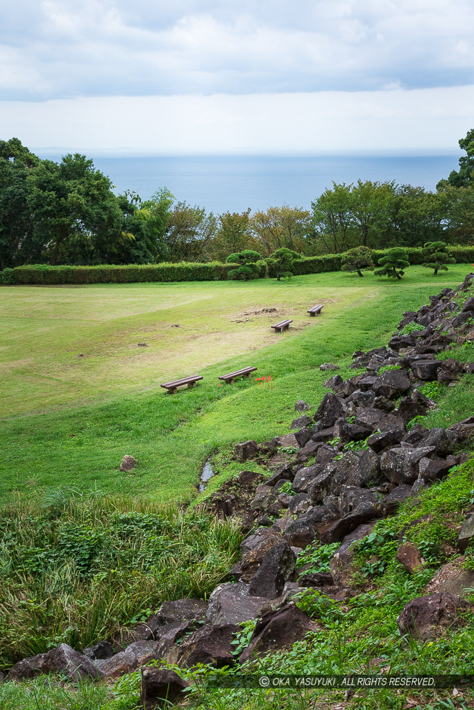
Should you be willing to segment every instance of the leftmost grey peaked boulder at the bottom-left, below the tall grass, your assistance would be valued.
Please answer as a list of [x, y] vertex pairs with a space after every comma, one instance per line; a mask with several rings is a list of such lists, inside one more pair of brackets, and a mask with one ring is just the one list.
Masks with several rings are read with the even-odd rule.
[[99, 670], [101, 661], [93, 661], [75, 651], [67, 643], [61, 643], [47, 653], [38, 653], [31, 658], [23, 658], [9, 670], [8, 680], [34, 678], [42, 673], [60, 673], [72, 681], [85, 678], [101, 679], [104, 674]]

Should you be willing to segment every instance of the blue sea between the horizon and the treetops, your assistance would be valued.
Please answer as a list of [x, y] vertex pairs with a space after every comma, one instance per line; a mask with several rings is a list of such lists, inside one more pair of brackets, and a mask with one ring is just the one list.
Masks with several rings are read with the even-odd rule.
[[[41, 151], [38, 151], [41, 155]], [[58, 155], [41, 155], [58, 160]], [[146, 200], [168, 187], [177, 200], [208, 212], [242, 212], [289, 204], [311, 207], [332, 182], [394, 180], [434, 190], [458, 168], [456, 155], [154, 156], [104, 157], [87, 153], [109, 175], [114, 191], [135, 190]]]

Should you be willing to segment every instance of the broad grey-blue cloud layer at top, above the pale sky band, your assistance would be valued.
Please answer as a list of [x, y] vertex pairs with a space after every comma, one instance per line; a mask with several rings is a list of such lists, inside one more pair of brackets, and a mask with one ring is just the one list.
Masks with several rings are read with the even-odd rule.
[[470, 0], [17, 0], [0, 97], [458, 86], [473, 26]]

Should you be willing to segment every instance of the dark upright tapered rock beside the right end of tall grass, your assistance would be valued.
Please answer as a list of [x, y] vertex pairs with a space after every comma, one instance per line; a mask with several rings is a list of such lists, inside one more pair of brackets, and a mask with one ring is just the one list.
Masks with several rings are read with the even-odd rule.
[[285, 582], [293, 579], [295, 564], [296, 555], [286, 540], [274, 545], [250, 579], [250, 594], [275, 599], [282, 593]]

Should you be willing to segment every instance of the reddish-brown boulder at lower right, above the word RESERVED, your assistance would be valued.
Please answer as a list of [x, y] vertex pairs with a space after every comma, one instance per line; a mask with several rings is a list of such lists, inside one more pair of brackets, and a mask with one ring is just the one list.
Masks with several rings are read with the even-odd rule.
[[465, 599], [441, 591], [428, 596], [419, 596], [405, 604], [397, 617], [397, 624], [402, 636], [427, 641], [436, 638], [447, 628], [460, 625], [459, 613], [468, 611], [470, 605]]

